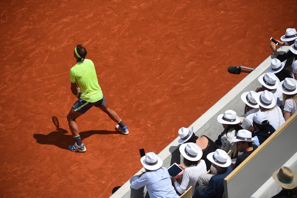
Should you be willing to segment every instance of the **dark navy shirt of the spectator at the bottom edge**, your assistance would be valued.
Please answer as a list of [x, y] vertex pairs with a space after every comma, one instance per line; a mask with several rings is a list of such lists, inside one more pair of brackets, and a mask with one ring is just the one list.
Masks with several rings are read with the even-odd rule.
[[226, 171], [218, 171], [217, 175], [211, 177], [208, 183], [208, 187], [201, 191], [200, 197], [215, 197], [222, 198], [224, 193], [224, 178], [232, 172], [231, 166], [227, 167]]

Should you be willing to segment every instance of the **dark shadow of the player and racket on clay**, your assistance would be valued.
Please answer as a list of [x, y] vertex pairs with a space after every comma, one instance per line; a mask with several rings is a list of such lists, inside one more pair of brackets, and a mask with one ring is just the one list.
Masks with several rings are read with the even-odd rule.
[[[33, 137], [36, 139], [36, 142], [39, 144], [53, 144], [61, 149], [68, 150], [68, 146], [71, 144], [74, 144], [73, 136], [66, 135], [68, 131], [59, 127], [59, 122], [56, 117], [53, 117], [53, 122], [57, 127], [56, 131], [52, 131], [47, 135], [35, 133]], [[121, 133], [118, 131], [105, 131], [105, 130], [90, 130], [90, 131], [82, 131], [79, 133], [81, 140], [94, 134], [101, 134], [101, 135], [119, 134], [120, 135]]]

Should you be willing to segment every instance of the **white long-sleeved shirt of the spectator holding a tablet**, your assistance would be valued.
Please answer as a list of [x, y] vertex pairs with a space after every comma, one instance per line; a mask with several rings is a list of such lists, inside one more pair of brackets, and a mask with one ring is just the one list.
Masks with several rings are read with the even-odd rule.
[[190, 186], [192, 186], [192, 196], [195, 192], [195, 186], [198, 180], [199, 175], [206, 173], [206, 164], [204, 160], [200, 160], [200, 163], [195, 165], [191, 165], [184, 170], [183, 180], [181, 184], [177, 181], [174, 182], [174, 186], [176, 190], [183, 194], [185, 190], [187, 190]]

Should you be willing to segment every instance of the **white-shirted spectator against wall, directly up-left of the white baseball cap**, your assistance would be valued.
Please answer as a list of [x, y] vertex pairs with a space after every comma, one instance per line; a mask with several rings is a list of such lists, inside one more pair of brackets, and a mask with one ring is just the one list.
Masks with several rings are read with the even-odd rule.
[[241, 127], [249, 130], [253, 126], [253, 116], [260, 111], [259, 105], [255, 100], [257, 93], [255, 91], [244, 92], [241, 94], [241, 100], [246, 104], [247, 114], [242, 121]]

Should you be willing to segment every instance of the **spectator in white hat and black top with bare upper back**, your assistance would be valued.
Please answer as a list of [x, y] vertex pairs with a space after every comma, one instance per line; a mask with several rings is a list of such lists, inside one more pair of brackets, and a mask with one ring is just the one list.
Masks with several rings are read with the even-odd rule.
[[203, 154], [201, 159], [205, 161], [206, 169], [209, 170], [211, 162], [206, 158], [206, 156], [208, 155], [208, 153], [217, 150], [219, 148], [218, 145], [207, 136], [201, 136], [200, 138], [198, 138], [198, 136], [195, 136], [195, 134], [193, 133], [193, 127], [191, 128], [191, 130], [184, 127], [180, 128], [178, 130], [178, 135], [181, 138], [178, 140], [178, 143], [193, 142], [202, 149]]

